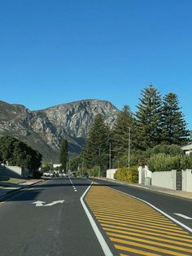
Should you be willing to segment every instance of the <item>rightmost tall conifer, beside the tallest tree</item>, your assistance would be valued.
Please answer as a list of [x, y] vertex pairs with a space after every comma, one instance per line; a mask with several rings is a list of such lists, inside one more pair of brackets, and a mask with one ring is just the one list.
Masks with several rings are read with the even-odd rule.
[[164, 96], [161, 130], [162, 141], [165, 143], [183, 145], [189, 141], [190, 132], [186, 130], [184, 115], [174, 93]]

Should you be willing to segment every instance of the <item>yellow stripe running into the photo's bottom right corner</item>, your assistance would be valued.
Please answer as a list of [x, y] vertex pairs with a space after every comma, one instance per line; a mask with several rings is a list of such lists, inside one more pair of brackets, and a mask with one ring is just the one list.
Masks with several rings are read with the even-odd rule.
[[152, 246], [152, 245], [144, 245], [144, 244], [131, 242], [131, 241], [125, 241], [125, 240], [122, 240], [122, 239], [117, 239], [117, 238], [112, 238], [112, 237], [110, 237], [110, 240], [113, 241], [113, 242], [116, 242], [116, 243], [124, 244], [124, 245], [133, 245], [133, 246], [137, 246], [139, 248], [151, 249], [151, 250], [153, 250], [155, 252], [158, 252], [158, 253], [171, 254], [171, 255], [175, 255], [175, 256], [176, 255], [177, 256], [183, 256], [183, 255], [188, 255], [189, 256], [189, 254], [181, 254], [181, 253], [176, 252], [176, 251], [159, 248], [159, 247], [155, 247], [155, 246]]

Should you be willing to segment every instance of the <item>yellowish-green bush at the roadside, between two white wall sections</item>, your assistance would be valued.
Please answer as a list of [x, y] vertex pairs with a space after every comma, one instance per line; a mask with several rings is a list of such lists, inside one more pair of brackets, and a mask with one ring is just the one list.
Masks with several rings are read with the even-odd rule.
[[116, 171], [114, 175], [115, 179], [119, 179], [128, 183], [137, 183], [138, 182], [138, 171], [137, 166], [130, 168], [122, 167]]

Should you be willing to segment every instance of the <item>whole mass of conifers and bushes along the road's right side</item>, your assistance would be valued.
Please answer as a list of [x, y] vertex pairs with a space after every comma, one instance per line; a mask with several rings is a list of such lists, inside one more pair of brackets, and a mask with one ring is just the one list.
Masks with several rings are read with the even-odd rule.
[[79, 170], [104, 176], [111, 147], [111, 168], [118, 169], [116, 179], [137, 183], [137, 166], [148, 165], [152, 171], [192, 168], [191, 157], [181, 150], [189, 143], [189, 135], [177, 95], [162, 97], [154, 86], [148, 86], [142, 90], [136, 113], [125, 105], [112, 129], [101, 114], [94, 118], [76, 162]]

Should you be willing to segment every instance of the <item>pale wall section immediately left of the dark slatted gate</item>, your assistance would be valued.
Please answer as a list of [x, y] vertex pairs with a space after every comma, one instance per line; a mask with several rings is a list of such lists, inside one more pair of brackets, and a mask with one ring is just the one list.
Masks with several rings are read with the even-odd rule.
[[176, 190], [177, 170], [155, 171], [151, 174], [151, 185]]

